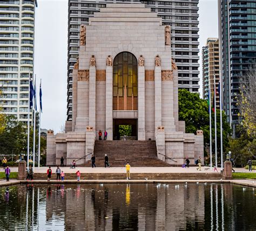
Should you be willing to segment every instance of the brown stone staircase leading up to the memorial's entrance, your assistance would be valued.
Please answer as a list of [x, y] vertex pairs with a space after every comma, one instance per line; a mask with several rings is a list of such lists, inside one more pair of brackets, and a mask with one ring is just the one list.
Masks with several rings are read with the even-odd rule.
[[[124, 167], [127, 162], [132, 167], [171, 166], [157, 158], [156, 141], [96, 141], [96, 166], [104, 167], [105, 154], [112, 167]], [[91, 161], [83, 166], [90, 167]]]

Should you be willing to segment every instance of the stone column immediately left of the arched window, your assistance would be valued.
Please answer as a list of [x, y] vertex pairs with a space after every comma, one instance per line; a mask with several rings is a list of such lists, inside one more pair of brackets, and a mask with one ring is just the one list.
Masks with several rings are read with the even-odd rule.
[[107, 140], [113, 140], [113, 69], [106, 67], [106, 131]]

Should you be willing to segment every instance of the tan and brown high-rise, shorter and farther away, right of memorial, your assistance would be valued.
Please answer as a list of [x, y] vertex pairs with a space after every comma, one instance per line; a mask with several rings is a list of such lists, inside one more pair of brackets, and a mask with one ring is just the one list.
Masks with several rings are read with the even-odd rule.
[[[214, 75], [215, 75], [215, 87], [219, 87], [219, 39], [208, 38], [206, 46], [202, 49], [202, 73], [203, 73], [203, 97], [208, 99], [209, 83], [211, 87], [211, 94], [214, 92]], [[211, 99], [213, 102], [213, 97]], [[216, 94], [216, 107], [219, 105], [219, 94]]]

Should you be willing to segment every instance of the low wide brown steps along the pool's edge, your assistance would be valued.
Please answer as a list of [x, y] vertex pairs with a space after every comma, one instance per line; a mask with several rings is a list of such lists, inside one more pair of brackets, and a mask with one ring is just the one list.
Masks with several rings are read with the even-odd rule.
[[[125, 171], [125, 170], [124, 170]], [[34, 180], [47, 180], [46, 173], [35, 173]], [[132, 180], [220, 180], [221, 173], [131, 173]], [[126, 173], [81, 173], [81, 180], [125, 180]], [[56, 174], [51, 180], [56, 180]], [[65, 180], [77, 180], [76, 173], [65, 173]]]

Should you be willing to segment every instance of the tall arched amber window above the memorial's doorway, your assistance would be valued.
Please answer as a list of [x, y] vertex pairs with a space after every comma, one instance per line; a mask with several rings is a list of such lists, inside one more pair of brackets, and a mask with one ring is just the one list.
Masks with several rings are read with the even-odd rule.
[[138, 109], [138, 62], [130, 52], [119, 53], [113, 62], [113, 110]]

